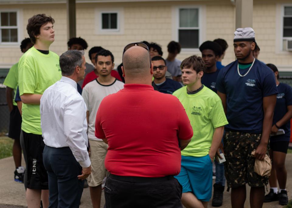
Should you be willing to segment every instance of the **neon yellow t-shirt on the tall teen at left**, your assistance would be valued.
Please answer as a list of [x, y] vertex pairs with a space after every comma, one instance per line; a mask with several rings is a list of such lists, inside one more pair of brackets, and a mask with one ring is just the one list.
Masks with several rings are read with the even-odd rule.
[[[43, 54], [31, 47], [21, 56], [18, 64], [19, 95], [43, 94], [61, 79], [59, 56], [54, 52]], [[42, 134], [40, 127], [40, 105], [22, 105], [21, 129], [26, 133]]]

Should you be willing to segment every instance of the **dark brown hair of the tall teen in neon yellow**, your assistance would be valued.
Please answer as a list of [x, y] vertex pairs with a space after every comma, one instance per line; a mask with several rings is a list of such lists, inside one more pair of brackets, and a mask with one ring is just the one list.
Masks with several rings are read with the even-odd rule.
[[40, 35], [40, 27], [48, 22], [54, 24], [55, 20], [51, 16], [46, 16], [45, 14], [33, 15], [31, 18], [28, 19], [26, 30], [33, 44], [36, 43], [35, 36]]

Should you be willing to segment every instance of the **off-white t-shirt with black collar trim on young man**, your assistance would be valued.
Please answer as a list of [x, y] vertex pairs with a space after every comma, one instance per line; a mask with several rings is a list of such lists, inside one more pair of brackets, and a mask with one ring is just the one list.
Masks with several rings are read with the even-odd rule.
[[103, 100], [104, 97], [118, 92], [120, 89], [124, 88], [124, 83], [119, 80], [115, 80], [110, 85], [102, 85], [97, 79], [89, 82], [82, 90], [82, 97], [85, 101], [87, 111], [89, 111], [89, 119], [88, 119], [88, 129], [87, 136], [88, 139], [92, 140], [102, 140], [98, 139], [95, 136], [95, 119], [98, 107]]

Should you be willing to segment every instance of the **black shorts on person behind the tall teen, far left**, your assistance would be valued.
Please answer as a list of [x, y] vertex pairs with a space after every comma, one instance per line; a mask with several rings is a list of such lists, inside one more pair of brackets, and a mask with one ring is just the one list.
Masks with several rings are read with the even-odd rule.
[[12, 111], [10, 112], [10, 119], [9, 119], [9, 132], [8, 137], [12, 139], [19, 139], [20, 138], [20, 131], [21, 131], [21, 115], [17, 108], [17, 106], [13, 106]]

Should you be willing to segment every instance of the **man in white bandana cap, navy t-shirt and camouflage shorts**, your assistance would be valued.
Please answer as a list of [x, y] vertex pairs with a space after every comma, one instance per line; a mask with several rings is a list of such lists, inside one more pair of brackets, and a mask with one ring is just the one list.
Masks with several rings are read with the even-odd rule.
[[251, 186], [250, 206], [258, 208], [263, 204], [268, 176], [255, 173], [254, 164], [269, 149], [277, 87], [272, 70], [253, 57], [254, 30], [238, 28], [234, 35], [237, 60], [220, 70], [216, 82], [229, 122], [224, 135], [225, 176], [233, 208], [244, 207], [246, 183]]

